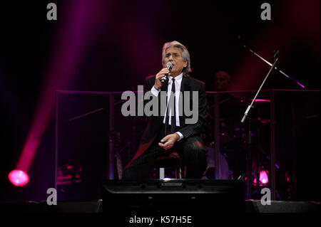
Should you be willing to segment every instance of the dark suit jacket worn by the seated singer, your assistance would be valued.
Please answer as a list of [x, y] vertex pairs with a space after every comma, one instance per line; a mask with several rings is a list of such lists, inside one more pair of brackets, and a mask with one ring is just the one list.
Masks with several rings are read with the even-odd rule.
[[[155, 84], [156, 75], [152, 75], [146, 78], [144, 83], [144, 94], [153, 88]], [[167, 91], [168, 83], [165, 83], [161, 87], [161, 91]], [[205, 94], [205, 83], [200, 80], [196, 80], [195, 78], [191, 78], [188, 75], [183, 75], [182, 83], [180, 85], [180, 91], [183, 93], [185, 91], [190, 92], [190, 108], [193, 107], [193, 91], [198, 91], [198, 121], [195, 124], [185, 124], [185, 119], [187, 116], [180, 116], [180, 130], [178, 132], [183, 134], [183, 138], [191, 137], [193, 135], [200, 135], [202, 132], [205, 132], [205, 127], [207, 126], [207, 122], [205, 120], [206, 116], [206, 94]], [[184, 97], [180, 97], [184, 98]], [[144, 104], [149, 102], [150, 100], [144, 100]], [[183, 107], [184, 110], [184, 107]], [[158, 94], [158, 111], [161, 111], [161, 93]], [[158, 132], [161, 130], [163, 124], [164, 113], [158, 112], [158, 116], [151, 116], [148, 120], [148, 125], [146, 130], [143, 133], [143, 137], [141, 139], [141, 143], [139, 144], [138, 151], [134, 155], [133, 160], [146, 152], [146, 150], [151, 147], [154, 140], [156, 139]], [[192, 117], [192, 116], [190, 116]], [[130, 166], [131, 162], [127, 165]]]

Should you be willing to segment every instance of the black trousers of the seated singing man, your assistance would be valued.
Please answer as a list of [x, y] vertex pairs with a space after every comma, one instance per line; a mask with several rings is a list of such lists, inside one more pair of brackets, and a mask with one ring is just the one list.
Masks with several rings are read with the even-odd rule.
[[158, 142], [165, 137], [164, 125], [158, 137], [151, 147], [144, 152], [141, 157], [133, 161], [131, 166], [124, 171], [124, 179], [148, 179], [151, 169], [153, 169], [156, 159], [161, 156], [169, 155], [173, 151], [178, 152], [183, 159], [186, 167], [186, 178], [200, 179], [206, 169], [206, 151], [203, 147], [203, 140], [200, 136], [192, 136], [180, 139], [174, 146], [165, 151], [158, 146]]

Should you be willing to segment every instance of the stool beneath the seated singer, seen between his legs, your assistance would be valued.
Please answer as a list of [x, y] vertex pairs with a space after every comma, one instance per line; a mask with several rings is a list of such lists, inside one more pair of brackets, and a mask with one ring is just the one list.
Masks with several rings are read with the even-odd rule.
[[159, 179], [165, 178], [165, 167], [175, 166], [176, 179], [182, 179], [184, 176], [183, 162], [177, 152], [172, 152], [168, 156], [158, 157], [154, 167], [159, 168]]

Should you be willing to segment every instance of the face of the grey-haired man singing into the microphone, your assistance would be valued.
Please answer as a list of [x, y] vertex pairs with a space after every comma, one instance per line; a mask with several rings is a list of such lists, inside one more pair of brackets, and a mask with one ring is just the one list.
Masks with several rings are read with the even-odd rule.
[[170, 70], [170, 74], [173, 77], [180, 75], [183, 68], [185, 68], [187, 65], [187, 61], [183, 60], [182, 50], [177, 47], [170, 47], [166, 49], [164, 65], [166, 65], [168, 62], [173, 64], [173, 68]]

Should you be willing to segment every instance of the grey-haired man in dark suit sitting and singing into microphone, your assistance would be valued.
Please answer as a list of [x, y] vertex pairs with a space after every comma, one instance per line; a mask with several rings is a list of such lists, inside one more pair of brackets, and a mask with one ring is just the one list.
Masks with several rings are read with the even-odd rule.
[[[138, 151], [124, 171], [124, 179], [147, 179], [156, 159], [173, 151], [183, 159], [186, 178], [200, 179], [206, 169], [206, 152], [200, 137], [206, 127], [205, 83], [188, 76], [190, 54], [178, 41], [165, 43], [162, 56], [163, 69], [146, 78], [144, 93], [151, 92], [160, 104], [161, 93], [167, 92], [167, 106], [165, 112], [149, 117]], [[167, 63], [173, 65], [171, 70], [165, 68]], [[168, 75], [167, 80], [162, 83], [165, 75]], [[173, 95], [177, 91], [181, 95]], [[193, 92], [198, 94], [198, 100], [193, 100]], [[193, 110], [198, 111], [198, 119], [194, 123], [188, 123], [184, 109], [179, 108], [180, 99], [188, 97], [186, 93], [190, 93], [188, 102], [198, 101], [197, 110]]]

